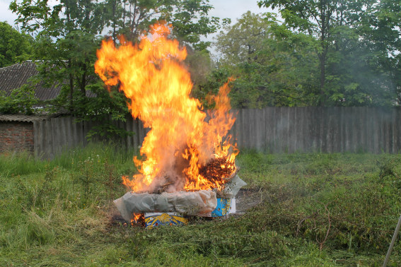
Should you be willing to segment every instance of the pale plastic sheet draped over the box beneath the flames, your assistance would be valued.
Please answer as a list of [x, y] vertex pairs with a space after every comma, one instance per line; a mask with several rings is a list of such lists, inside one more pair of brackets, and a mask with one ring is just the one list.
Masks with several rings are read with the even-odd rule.
[[122, 218], [130, 222], [133, 213], [178, 212], [185, 215], [210, 213], [217, 206], [217, 198], [216, 193], [209, 190], [162, 194], [128, 192], [114, 203]]

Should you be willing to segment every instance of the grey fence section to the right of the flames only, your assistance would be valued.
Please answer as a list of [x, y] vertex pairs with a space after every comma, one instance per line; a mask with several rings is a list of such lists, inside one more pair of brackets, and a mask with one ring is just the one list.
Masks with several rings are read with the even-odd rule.
[[240, 109], [232, 129], [240, 148], [283, 152], [401, 151], [401, 109], [265, 107]]

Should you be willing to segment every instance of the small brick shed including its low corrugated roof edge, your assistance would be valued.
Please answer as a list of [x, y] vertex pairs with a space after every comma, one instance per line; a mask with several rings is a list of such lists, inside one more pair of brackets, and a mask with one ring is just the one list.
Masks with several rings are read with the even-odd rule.
[[45, 119], [50, 116], [0, 114], [0, 153], [23, 150], [33, 153], [33, 122]]

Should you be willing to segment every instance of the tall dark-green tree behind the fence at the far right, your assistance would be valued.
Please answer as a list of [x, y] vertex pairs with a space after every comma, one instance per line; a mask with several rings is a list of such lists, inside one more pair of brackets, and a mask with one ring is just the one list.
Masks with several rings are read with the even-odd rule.
[[[387, 85], [379, 85], [374, 79], [368, 79], [369, 83], [365, 81], [363, 84], [363, 80], [347, 74], [347, 69], [354, 67], [366, 70], [365, 77], [385, 71], [383, 62], [388, 61], [389, 52], [397, 51], [395, 44], [400, 42], [399, 1], [263, 0], [258, 4], [281, 8], [284, 25], [319, 40], [315, 50], [320, 65], [320, 105], [382, 105], [388, 101], [383, 98], [378, 100], [378, 97], [394, 96], [394, 92], [371, 95], [372, 90], [368, 90], [368, 86], [376, 88], [373, 91], [377, 93], [388, 90]], [[388, 33], [390, 37], [385, 37]], [[364, 52], [357, 53], [358, 57], [351, 59], [344, 57], [352, 54], [352, 51]], [[368, 56], [364, 56], [366, 53]], [[345, 63], [348, 66], [344, 69]], [[391, 64], [395, 66], [394, 63]], [[341, 73], [340, 69], [343, 69]], [[348, 77], [344, 80], [345, 76]], [[340, 102], [340, 97], [345, 102]]]

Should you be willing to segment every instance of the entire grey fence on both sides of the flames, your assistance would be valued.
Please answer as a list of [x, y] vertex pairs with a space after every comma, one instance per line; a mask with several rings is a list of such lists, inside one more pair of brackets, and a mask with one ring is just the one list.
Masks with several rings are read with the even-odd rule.
[[[265, 107], [233, 112], [237, 120], [231, 133], [240, 149], [271, 153], [401, 151], [400, 108]], [[35, 154], [53, 158], [66, 148], [84, 146], [86, 134], [96, 125], [74, 123], [72, 117], [35, 121]], [[128, 118], [118, 126], [135, 133], [120, 138], [122, 146], [141, 146], [147, 131], [141, 121]]]

